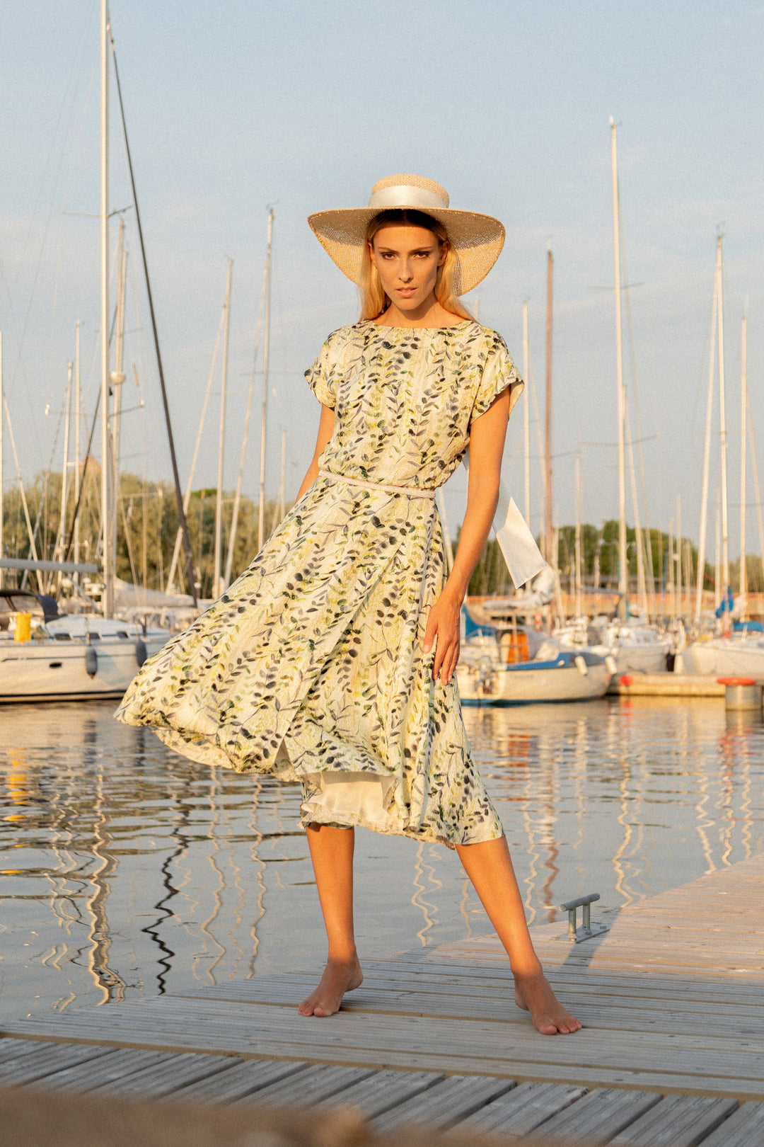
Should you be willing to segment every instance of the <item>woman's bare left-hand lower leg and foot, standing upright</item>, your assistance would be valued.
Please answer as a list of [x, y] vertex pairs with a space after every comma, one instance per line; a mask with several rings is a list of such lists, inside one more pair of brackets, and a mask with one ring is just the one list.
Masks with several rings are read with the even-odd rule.
[[302, 1015], [333, 1015], [345, 992], [363, 980], [353, 931], [353, 850], [355, 830], [331, 825], [308, 825], [308, 845], [316, 874], [318, 899], [329, 941], [329, 957], [321, 983], [302, 1000]]

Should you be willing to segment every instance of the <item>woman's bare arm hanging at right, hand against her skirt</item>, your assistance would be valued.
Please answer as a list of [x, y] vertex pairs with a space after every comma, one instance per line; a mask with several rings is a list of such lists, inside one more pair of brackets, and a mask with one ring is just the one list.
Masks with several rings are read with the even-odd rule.
[[509, 418], [510, 388], [470, 426], [467, 508], [454, 567], [443, 592], [430, 610], [424, 640], [424, 650], [428, 653], [436, 639], [432, 676], [436, 680], [440, 674], [443, 685], [450, 681], [456, 669], [462, 602], [496, 513]]

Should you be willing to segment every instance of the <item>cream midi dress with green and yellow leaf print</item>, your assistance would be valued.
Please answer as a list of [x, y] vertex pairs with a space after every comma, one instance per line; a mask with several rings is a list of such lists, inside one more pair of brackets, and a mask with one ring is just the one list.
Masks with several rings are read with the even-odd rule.
[[342, 327], [306, 377], [334, 409], [322, 475], [230, 588], [147, 661], [117, 716], [192, 760], [300, 781], [304, 824], [494, 840], [502, 825], [456, 678], [432, 680], [423, 640], [446, 580], [432, 492], [471, 421], [507, 388], [513, 405], [520, 376], [503, 340], [465, 320]]

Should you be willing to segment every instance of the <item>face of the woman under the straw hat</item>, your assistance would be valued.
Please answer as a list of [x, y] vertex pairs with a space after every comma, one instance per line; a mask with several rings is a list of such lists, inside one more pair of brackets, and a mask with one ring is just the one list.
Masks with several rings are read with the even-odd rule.
[[385, 294], [404, 314], [432, 304], [447, 244], [426, 227], [386, 224], [369, 243]]

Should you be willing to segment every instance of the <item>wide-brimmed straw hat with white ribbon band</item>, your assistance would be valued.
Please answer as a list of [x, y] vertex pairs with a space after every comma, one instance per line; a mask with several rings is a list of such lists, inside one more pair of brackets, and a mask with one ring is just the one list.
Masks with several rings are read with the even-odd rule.
[[371, 188], [367, 208], [316, 211], [308, 223], [329, 257], [357, 284], [367, 227], [380, 211], [413, 210], [432, 216], [446, 227], [457, 256], [454, 289], [465, 295], [481, 282], [504, 247], [504, 227], [493, 216], [449, 208], [448, 192], [424, 175], [386, 175]]

